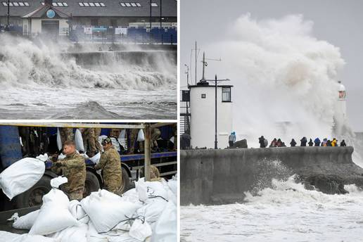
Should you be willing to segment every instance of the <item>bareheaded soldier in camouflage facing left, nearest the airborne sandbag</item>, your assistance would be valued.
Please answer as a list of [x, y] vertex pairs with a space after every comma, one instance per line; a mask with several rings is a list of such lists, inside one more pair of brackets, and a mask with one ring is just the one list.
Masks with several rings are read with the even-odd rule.
[[63, 153], [66, 157], [54, 163], [51, 170], [67, 177], [68, 182], [62, 185], [62, 190], [68, 194], [70, 200], [81, 200], [86, 181], [86, 163], [84, 158], [76, 152], [74, 141], [65, 141]]

